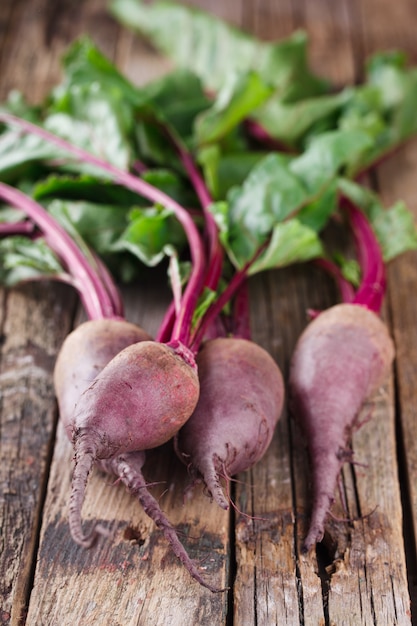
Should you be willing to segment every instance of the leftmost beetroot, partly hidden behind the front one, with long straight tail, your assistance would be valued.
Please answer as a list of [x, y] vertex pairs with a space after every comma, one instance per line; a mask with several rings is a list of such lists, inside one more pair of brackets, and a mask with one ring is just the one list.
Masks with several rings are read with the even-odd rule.
[[[76, 421], [74, 406], [90, 383], [125, 347], [140, 341], [149, 342], [149, 340], [149, 335], [140, 327], [117, 319], [90, 320], [78, 326], [68, 335], [58, 355], [54, 378], [61, 419], [69, 439], [73, 439]], [[154, 343], [152, 347], [160, 345]], [[85, 439], [88, 439], [88, 432], [84, 435]], [[76, 447], [78, 447], [78, 443], [76, 443]], [[109, 458], [96, 459], [96, 462], [101, 470], [117, 476], [126, 485], [129, 492], [139, 500], [145, 513], [163, 532], [174, 554], [180, 559], [191, 576], [210, 591], [223, 591], [223, 589], [213, 587], [202, 578], [197, 566], [179, 541], [176, 529], [150, 494], [142, 474], [145, 458], [146, 455], [143, 450], [122, 454], [115, 452]], [[85, 466], [83, 457], [78, 460], [78, 464], [81, 467]], [[98, 533], [107, 533], [100, 526], [96, 526], [89, 536], [85, 536], [81, 531], [80, 515], [86, 480], [87, 476], [82, 478], [81, 484], [79, 484], [74, 477], [70, 503], [70, 527], [74, 540], [88, 548], [93, 545]]]

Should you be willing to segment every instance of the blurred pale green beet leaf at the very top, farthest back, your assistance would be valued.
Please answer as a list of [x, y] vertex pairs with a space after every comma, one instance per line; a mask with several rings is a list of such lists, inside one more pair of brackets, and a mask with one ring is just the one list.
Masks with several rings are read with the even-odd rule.
[[328, 89], [327, 82], [308, 67], [303, 32], [278, 42], [262, 42], [214, 15], [174, 2], [113, 0], [110, 10], [177, 67], [199, 76], [208, 90], [218, 91], [230, 75], [249, 70], [258, 72], [287, 100]]

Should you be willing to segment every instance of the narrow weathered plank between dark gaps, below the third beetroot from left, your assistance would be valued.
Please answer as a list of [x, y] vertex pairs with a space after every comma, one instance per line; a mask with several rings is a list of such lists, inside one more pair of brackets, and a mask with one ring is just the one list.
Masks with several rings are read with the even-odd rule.
[[[272, 280], [269, 275], [252, 281], [250, 295], [253, 338], [270, 351], [275, 344], [275, 357], [281, 354], [283, 335]], [[283, 415], [262, 463], [240, 476], [236, 485], [237, 507], [243, 512], [236, 518], [237, 624], [284, 624], [298, 616], [291, 474], [288, 419]]]

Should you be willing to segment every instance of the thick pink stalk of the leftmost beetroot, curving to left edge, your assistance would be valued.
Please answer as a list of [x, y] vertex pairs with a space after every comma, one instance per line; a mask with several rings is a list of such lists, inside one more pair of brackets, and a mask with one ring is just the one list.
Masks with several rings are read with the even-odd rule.
[[68, 233], [35, 200], [0, 182], [0, 197], [23, 211], [44, 233], [50, 248], [70, 268], [83, 304], [91, 319], [115, 317], [112, 302], [101, 280]]

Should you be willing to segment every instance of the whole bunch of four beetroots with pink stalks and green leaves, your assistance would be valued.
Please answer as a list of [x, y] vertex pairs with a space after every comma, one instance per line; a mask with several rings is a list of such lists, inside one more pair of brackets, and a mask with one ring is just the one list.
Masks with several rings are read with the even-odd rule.
[[[152, 6], [146, 5], [143, 10], [152, 12]], [[245, 45], [255, 43], [249, 40]], [[286, 42], [286, 50], [292, 46], [298, 49], [299, 45], [297, 39]], [[282, 55], [270, 54], [270, 48], [261, 47], [260, 51], [268, 58], [282, 59]], [[103, 75], [114, 81], [114, 88], [102, 89], [102, 93], [95, 87], [95, 97], [110, 98], [109, 94], [117, 94], [120, 89], [117, 114], [118, 107], [132, 107], [136, 134], [139, 142], [142, 140], [143, 162], [136, 159], [120, 165], [116, 158], [104, 158], [97, 151], [80, 147], [81, 131], [75, 145], [46, 129], [48, 123], [59, 126], [60, 108], [65, 109], [71, 97], [84, 93], [83, 89], [84, 96], [90, 97], [91, 85], [82, 82], [85, 77], [80, 71], [81, 57], [77, 56], [83, 54], [96, 87]], [[15, 234], [34, 244], [42, 241], [60, 268], [56, 278], [77, 289], [89, 318], [64, 341], [54, 372], [60, 416], [75, 451], [70, 531], [74, 540], [86, 548], [93, 546], [99, 534], [107, 534], [98, 525], [89, 534], [82, 527], [85, 489], [90, 471], [97, 464], [116, 475], [138, 498], [190, 574], [208, 589], [219, 591], [202, 578], [175, 528], [149, 492], [142, 474], [146, 451], [173, 440], [190, 474], [204, 483], [220, 507], [228, 508], [231, 477], [262, 458], [284, 402], [284, 381], [277, 364], [251, 341], [247, 279], [260, 271], [318, 258], [336, 278], [343, 303], [317, 313], [300, 337], [291, 362], [288, 391], [291, 411], [305, 433], [312, 466], [313, 506], [304, 550], [321, 540], [340, 469], [350, 458], [351, 432], [359, 426], [364, 401], [384, 382], [394, 357], [392, 341], [378, 317], [385, 292], [384, 262], [394, 253], [383, 256], [375, 236], [372, 220], [377, 203], [370, 202], [370, 211], [370, 196], [359, 192], [359, 186], [342, 178], [342, 173], [351, 178], [358, 175], [404, 139], [404, 135], [396, 134], [395, 126], [401, 121], [402, 101], [398, 98], [398, 109], [386, 112], [386, 119], [372, 127], [379, 129], [380, 136], [372, 136], [370, 132], [374, 131], [361, 127], [355, 117], [355, 98], [361, 106], [366, 102], [360, 89], [327, 94], [327, 108], [318, 107], [324, 84], [301, 63], [291, 72], [278, 72], [293, 77], [298, 72], [300, 84], [308, 85], [310, 90], [303, 92], [304, 100], [300, 96], [299, 103], [312, 112], [311, 123], [308, 128], [298, 127], [297, 133], [289, 137], [289, 125], [280, 126], [277, 120], [273, 123], [271, 110], [276, 104], [282, 105], [280, 89], [285, 92], [290, 87], [269, 84], [261, 70], [259, 76], [253, 68], [247, 75], [239, 75], [235, 83], [227, 83], [224, 92], [218, 84], [207, 83], [207, 89], [219, 92], [210, 98], [197, 78], [187, 73], [151, 85], [144, 95], [117, 74], [89, 43], [75, 46], [68, 58], [74, 72], [70, 82], [81, 82], [76, 91], [69, 88], [61, 100], [57, 91], [58, 113], [43, 125], [39, 120], [36, 124], [29, 121], [33, 112], [26, 111], [23, 117], [0, 112], [0, 123], [12, 129], [6, 138], [9, 143], [23, 142], [25, 146], [22, 137], [33, 140], [23, 164], [14, 163], [13, 158], [6, 159], [5, 165], [0, 162], [2, 180], [13, 179], [14, 168], [24, 170], [28, 163], [38, 162], [41, 170], [64, 170], [66, 175], [74, 170], [84, 175], [87, 172], [87, 178], [80, 178], [78, 184], [88, 189], [88, 176], [93, 177], [90, 196], [98, 180], [103, 186], [111, 183], [118, 191], [123, 189], [131, 194], [129, 199], [163, 207], [175, 218], [186, 242], [184, 265], [170, 249], [172, 303], [157, 336], [150, 337], [124, 318], [118, 289], [100, 251], [86, 245], [82, 238], [71, 236], [42, 202], [0, 182], [0, 198], [23, 215], [23, 219], [2, 224], [0, 236]], [[290, 63], [297, 64], [295, 60], [302, 57], [297, 53], [289, 58]], [[384, 62], [391, 71], [392, 61]], [[396, 69], [403, 79], [403, 70]], [[375, 80], [371, 76], [370, 83]], [[178, 90], [185, 84], [192, 88], [192, 96], [183, 119], [175, 107], [172, 111], [162, 105], [166, 100], [170, 102], [166, 97], [168, 87], [172, 95], [173, 87]], [[376, 88], [375, 84], [365, 87]], [[295, 109], [297, 106], [294, 102]], [[404, 111], [407, 106], [405, 102]], [[195, 144], [187, 135], [193, 107]], [[285, 107], [279, 110], [284, 115]], [[328, 111], [329, 119], [320, 117], [324, 111]], [[328, 128], [335, 119], [335, 126]], [[393, 126], [388, 127], [391, 120]], [[322, 123], [324, 133], [317, 130]], [[397, 125], [404, 132], [404, 125]], [[119, 137], [120, 144], [123, 139]], [[252, 148], [253, 139], [256, 150]], [[291, 152], [281, 149], [283, 144]], [[243, 159], [242, 146], [246, 148]], [[273, 150], [265, 154], [265, 146], [273, 146]], [[105, 152], [105, 147], [99, 148], [98, 153]], [[125, 157], [123, 152], [120, 160]], [[198, 201], [197, 209], [176, 198], [180, 195], [178, 189], [172, 193], [165, 189], [168, 183], [175, 187], [175, 177], [164, 177], [159, 172], [154, 175], [159, 186], [152, 182], [152, 161], [158, 159], [160, 166], [173, 160], [192, 190], [192, 202]], [[196, 159], [201, 168], [196, 166]], [[225, 185], [225, 178], [233, 184]], [[20, 182], [22, 188], [28, 186], [27, 181]], [[55, 184], [72, 190], [72, 181], [51, 180], [44, 184], [43, 193]], [[39, 189], [33, 195], [36, 193]], [[355, 288], [344, 278], [343, 268], [326, 255], [319, 236], [339, 210], [356, 243], [361, 281]], [[405, 237], [407, 229], [411, 233], [395, 254], [417, 246], [415, 226], [405, 213], [398, 207], [391, 213], [396, 224], [402, 224], [399, 239]], [[168, 244], [166, 248], [170, 248]]]

